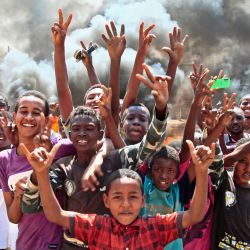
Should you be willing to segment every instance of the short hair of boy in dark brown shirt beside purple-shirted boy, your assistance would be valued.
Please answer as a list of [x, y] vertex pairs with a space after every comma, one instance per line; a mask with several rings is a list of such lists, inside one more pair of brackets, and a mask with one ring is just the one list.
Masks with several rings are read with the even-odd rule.
[[86, 106], [78, 106], [76, 107], [70, 114], [70, 125], [72, 124], [74, 118], [76, 116], [89, 116], [91, 117], [96, 126], [97, 126], [97, 129], [100, 130], [101, 129], [101, 118], [100, 118], [100, 115], [98, 112], [96, 112], [93, 108], [90, 108], [90, 107], [86, 107]]

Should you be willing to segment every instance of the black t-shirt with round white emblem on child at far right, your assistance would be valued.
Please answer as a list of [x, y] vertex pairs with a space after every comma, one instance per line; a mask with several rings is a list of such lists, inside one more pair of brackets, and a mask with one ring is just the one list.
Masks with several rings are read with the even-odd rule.
[[211, 249], [250, 249], [250, 188], [237, 186], [224, 171], [215, 186]]

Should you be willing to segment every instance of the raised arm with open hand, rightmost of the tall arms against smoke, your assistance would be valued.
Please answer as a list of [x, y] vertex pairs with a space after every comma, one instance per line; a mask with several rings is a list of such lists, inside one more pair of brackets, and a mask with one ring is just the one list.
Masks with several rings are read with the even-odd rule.
[[171, 77], [168, 84], [169, 93], [171, 93], [171, 89], [174, 83], [176, 69], [184, 56], [184, 47], [187, 38], [188, 36], [186, 35], [183, 40], [181, 40], [181, 29], [174, 27], [173, 32], [169, 33], [170, 47], [162, 48], [162, 50], [169, 55], [168, 68], [166, 73], [167, 76]]

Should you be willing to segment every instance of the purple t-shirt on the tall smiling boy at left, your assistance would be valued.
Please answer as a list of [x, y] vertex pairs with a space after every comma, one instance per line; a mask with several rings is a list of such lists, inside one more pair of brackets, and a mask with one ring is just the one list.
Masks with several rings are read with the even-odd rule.
[[[54, 160], [75, 153], [71, 141], [62, 139], [60, 143], [62, 145]], [[26, 157], [16, 154], [16, 148], [0, 152], [0, 186], [3, 192], [11, 192], [11, 187], [8, 185], [8, 180], [12, 178], [11, 176], [31, 169]], [[43, 211], [33, 214], [23, 214], [18, 228], [17, 250], [60, 249], [62, 228], [49, 222]]]

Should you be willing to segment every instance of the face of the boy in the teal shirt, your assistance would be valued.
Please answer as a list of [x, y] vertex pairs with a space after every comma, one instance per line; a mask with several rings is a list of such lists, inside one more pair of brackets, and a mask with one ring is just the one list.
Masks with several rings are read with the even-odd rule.
[[172, 159], [156, 158], [153, 161], [151, 178], [161, 191], [167, 191], [177, 177], [177, 162]]

